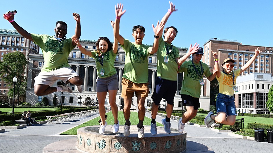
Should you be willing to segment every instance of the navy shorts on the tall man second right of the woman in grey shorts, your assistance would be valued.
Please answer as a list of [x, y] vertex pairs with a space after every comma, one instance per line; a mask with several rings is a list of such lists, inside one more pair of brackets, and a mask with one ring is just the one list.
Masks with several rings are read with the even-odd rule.
[[155, 90], [152, 99], [155, 105], [159, 105], [162, 98], [164, 98], [169, 105], [173, 105], [173, 99], [176, 93], [177, 81], [171, 81], [157, 77], [155, 81]]

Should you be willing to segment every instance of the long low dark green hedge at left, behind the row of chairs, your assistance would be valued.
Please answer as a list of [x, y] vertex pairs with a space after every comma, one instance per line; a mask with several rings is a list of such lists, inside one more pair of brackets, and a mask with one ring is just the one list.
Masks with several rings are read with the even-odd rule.
[[[56, 111], [33, 111], [31, 113], [31, 117], [35, 116], [47, 116], [47, 115], [56, 115], [56, 114], [64, 114], [64, 113], [72, 113], [72, 112], [78, 112], [78, 111], [87, 111], [91, 110], [90, 108], [81, 108], [81, 109], [62, 109], [56, 110]], [[0, 114], [0, 122], [7, 121], [7, 120], [19, 120], [21, 119], [22, 113], [10, 113], [10, 114]]]

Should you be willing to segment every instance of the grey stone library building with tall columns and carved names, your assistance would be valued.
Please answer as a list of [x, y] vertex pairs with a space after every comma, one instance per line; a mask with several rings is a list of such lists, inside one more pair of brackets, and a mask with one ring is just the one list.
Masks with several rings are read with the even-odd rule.
[[[90, 41], [90, 40], [80, 40], [80, 43], [83, 47], [85, 47], [87, 50], [96, 50], [96, 41]], [[180, 56], [184, 56], [187, 48], [179, 48]], [[26, 99], [28, 102], [30, 102], [32, 105], [35, 105], [37, 102], [41, 102], [41, 99], [43, 97], [47, 97], [49, 100], [50, 105], [53, 105], [52, 99], [54, 94], [58, 97], [58, 104], [60, 104], [60, 98], [61, 98], [61, 92], [55, 92], [46, 96], [36, 96], [34, 94], [34, 77], [36, 77], [39, 72], [41, 71], [41, 68], [43, 67], [44, 61], [43, 56], [39, 54], [29, 54], [27, 55], [27, 58], [29, 59], [29, 65], [28, 65], [28, 85], [27, 85], [27, 93], [26, 93]], [[120, 97], [121, 95], [121, 78], [124, 71], [124, 60], [125, 60], [125, 52], [123, 49], [118, 46], [118, 55], [116, 56], [116, 61], [114, 63], [114, 66], [116, 68], [118, 78], [119, 78], [119, 90], [116, 97], [116, 104], [118, 105], [119, 109], [122, 109], [124, 106], [123, 98]], [[149, 63], [149, 96], [146, 98], [145, 106], [148, 107], [148, 103], [152, 101], [151, 96], [154, 90], [154, 84], [155, 79], [157, 77], [156, 68], [157, 68], [157, 57], [156, 54], [148, 57], [148, 63]], [[75, 85], [68, 84], [69, 87], [72, 88], [73, 93], [70, 94], [68, 92], [63, 93], [63, 105], [79, 105], [79, 99], [78, 97], [83, 97], [81, 99], [81, 102], [89, 97], [93, 98], [97, 102], [97, 95], [96, 95], [96, 79], [97, 79], [97, 70], [96, 70], [96, 63], [95, 59], [90, 58], [87, 55], [82, 54], [79, 49], [76, 47], [72, 50], [72, 52], [69, 55], [68, 63], [70, 64], [71, 68], [74, 69], [80, 77], [84, 80], [83, 87], [84, 90], [82, 93], [79, 93], [75, 89]], [[177, 92], [174, 99], [174, 109], [182, 109], [182, 100], [180, 97], [180, 88], [182, 86], [182, 79], [183, 79], [183, 73], [177, 74]], [[205, 110], [209, 110], [209, 91], [210, 91], [210, 81], [208, 81], [206, 78], [204, 78], [205, 85], [202, 86], [202, 89], [200, 91], [200, 108], [203, 108]], [[55, 85], [56, 86], [56, 83]], [[166, 106], [166, 101], [162, 99], [160, 102], [161, 106], [164, 108]], [[133, 97], [133, 104], [132, 109], [136, 109], [137, 107], [137, 98]], [[105, 106], [110, 106], [108, 102], [108, 95], [105, 100]]]

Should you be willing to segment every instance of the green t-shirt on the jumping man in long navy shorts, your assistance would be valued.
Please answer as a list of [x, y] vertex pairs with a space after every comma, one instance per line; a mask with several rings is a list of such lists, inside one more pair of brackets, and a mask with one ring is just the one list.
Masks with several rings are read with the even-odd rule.
[[[167, 49], [171, 50], [168, 54], [168, 63], [164, 62], [164, 58], [167, 57]], [[159, 46], [156, 52], [157, 54], [157, 77], [162, 79], [177, 81], [178, 64], [176, 58], [179, 57], [179, 50], [175, 46], [171, 49], [171, 44], [164, 42], [162, 37], [159, 39]]]

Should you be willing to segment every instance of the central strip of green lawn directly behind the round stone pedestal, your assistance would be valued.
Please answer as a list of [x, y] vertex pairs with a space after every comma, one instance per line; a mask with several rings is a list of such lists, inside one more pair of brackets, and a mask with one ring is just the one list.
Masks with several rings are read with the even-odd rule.
[[[106, 113], [106, 115], [108, 116], [107, 117], [107, 124], [109, 125], [114, 125], [114, 117], [113, 117], [113, 114], [112, 112], [108, 112]], [[85, 127], [85, 126], [92, 126], [92, 125], [100, 125], [98, 120], [100, 119], [100, 117], [96, 117], [94, 118], [93, 120], [90, 120], [90, 121], [87, 121], [79, 126], [76, 126], [70, 130], [67, 130], [65, 131], [64, 133], [61, 133], [61, 135], [77, 135], [77, 130], [78, 128], [81, 128], [81, 127]], [[123, 116], [123, 112], [122, 111], [118, 111], [118, 120], [120, 122], [120, 126], [124, 125], [125, 124], [125, 120], [124, 120], [124, 116]], [[130, 115], [130, 121], [131, 121], [131, 125], [137, 125], [138, 124], [138, 113], [137, 112], [131, 112], [131, 115]], [[144, 121], [143, 121], [143, 125], [148, 125], [150, 126], [151, 125], [151, 119], [148, 118], [148, 117], [145, 117], [144, 118]], [[156, 123], [157, 126], [163, 126], [162, 124], [160, 123]]]

